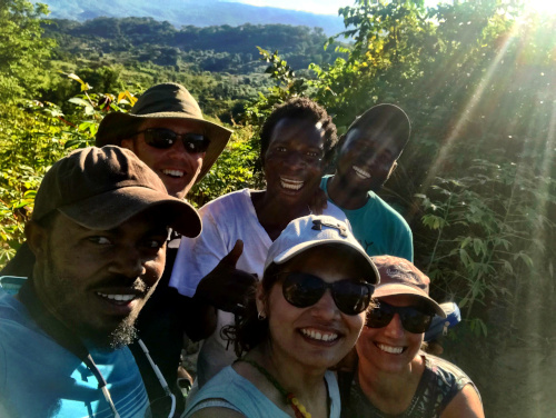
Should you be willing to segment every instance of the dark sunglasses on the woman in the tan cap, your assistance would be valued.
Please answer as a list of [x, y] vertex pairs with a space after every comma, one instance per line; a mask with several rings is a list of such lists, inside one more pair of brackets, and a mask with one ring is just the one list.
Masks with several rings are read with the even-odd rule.
[[423, 334], [427, 331], [433, 321], [434, 314], [425, 312], [413, 307], [395, 307], [379, 302], [376, 308], [367, 312], [366, 326], [369, 328], [384, 328], [390, 324], [394, 315], [398, 314], [401, 326], [408, 332]]

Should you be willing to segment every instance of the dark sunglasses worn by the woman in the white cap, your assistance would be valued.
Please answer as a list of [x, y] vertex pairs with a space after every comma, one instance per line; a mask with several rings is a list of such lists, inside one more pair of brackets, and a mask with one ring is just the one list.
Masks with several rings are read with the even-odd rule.
[[351, 279], [327, 283], [320, 277], [306, 272], [285, 271], [277, 276], [280, 275], [287, 275], [281, 287], [284, 298], [297, 308], [315, 305], [325, 295], [326, 289], [330, 289], [332, 299], [341, 312], [357, 315], [367, 309], [375, 290], [373, 285]]

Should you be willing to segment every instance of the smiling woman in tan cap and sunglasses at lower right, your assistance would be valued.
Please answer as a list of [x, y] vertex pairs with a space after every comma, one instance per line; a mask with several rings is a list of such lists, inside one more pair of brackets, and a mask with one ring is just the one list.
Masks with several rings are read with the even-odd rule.
[[430, 280], [409, 261], [374, 257], [378, 305], [367, 311], [357, 341], [359, 364], [342, 417], [484, 417], [473, 381], [455, 365], [420, 351], [433, 316], [444, 311], [428, 296]]

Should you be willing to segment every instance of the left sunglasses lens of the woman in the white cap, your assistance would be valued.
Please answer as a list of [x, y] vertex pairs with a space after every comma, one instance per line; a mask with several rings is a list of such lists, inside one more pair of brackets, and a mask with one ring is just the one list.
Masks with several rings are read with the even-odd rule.
[[304, 272], [290, 272], [282, 283], [284, 298], [297, 308], [315, 305], [325, 290], [320, 278]]

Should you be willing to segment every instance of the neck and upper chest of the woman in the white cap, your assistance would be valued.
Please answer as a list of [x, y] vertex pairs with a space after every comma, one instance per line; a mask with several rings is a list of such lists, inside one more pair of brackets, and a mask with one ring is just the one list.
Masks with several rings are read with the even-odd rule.
[[286, 354], [274, 350], [268, 344], [256, 347], [246, 358], [265, 368], [284, 389], [305, 406], [312, 417], [328, 417], [326, 368], [307, 367]]

